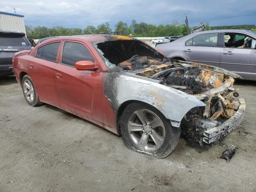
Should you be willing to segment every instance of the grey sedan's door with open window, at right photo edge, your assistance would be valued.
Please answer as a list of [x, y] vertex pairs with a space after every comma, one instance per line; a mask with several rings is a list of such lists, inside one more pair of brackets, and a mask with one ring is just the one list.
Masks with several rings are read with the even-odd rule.
[[[231, 38], [234, 38], [234, 40], [230, 40]], [[232, 42], [232, 44], [228, 42]], [[255, 44], [256, 39], [247, 34], [222, 33], [220, 67], [242, 77], [256, 78]]]

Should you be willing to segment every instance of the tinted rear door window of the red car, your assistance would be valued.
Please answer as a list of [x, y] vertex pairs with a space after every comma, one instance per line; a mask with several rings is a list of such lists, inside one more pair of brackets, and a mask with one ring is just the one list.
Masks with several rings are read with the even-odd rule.
[[[59, 46], [60, 46], [60, 42], [44, 45], [41, 53], [41, 58], [48, 61], [56, 62]], [[36, 56], [37, 56], [37, 53], [36, 53]]]

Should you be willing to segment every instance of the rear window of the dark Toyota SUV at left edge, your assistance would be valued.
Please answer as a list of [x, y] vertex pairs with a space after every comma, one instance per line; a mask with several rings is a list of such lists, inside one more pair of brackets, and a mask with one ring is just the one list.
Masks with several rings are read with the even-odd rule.
[[0, 36], [0, 46], [28, 46], [28, 42], [24, 37]]

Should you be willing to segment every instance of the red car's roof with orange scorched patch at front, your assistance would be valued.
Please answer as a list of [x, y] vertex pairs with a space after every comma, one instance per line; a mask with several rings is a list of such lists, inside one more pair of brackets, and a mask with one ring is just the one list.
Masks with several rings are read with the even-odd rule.
[[[44, 42], [50, 42], [53, 38], [46, 40]], [[60, 36], [54, 38], [54, 40], [86, 40], [89, 42], [96, 41], [106, 41], [106, 40], [134, 40], [132, 37], [122, 36], [122, 35], [101, 35], [101, 34], [92, 34], [92, 35], [73, 35], [73, 36]]]

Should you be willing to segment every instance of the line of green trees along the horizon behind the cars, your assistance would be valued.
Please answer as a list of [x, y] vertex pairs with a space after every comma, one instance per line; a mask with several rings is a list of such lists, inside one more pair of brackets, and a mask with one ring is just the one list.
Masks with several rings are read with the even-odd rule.
[[[201, 22], [202, 24], [202, 22]], [[86, 26], [84, 29], [80, 28], [64, 28], [62, 26], [54, 26], [51, 28], [45, 26], [25, 26], [26, 34], [28, 38], [41, 39], [49, 36], [64, 36], [64, 35], [81, 35], [81, 34], [92, 34], [97, 32], [110, 32], [109, 22], [102, 23], [95, 26]], [[194, 27], [192, 27], [194, 28]], [[205, 24], [205, 30], [216, 30], [216, 29], [252, 29], [256, 30], [255, 25], [237, 25], [237, 26], [210, 26], [208, 23]], [[132, 20], [130, 26], [126, 22], [118, 21], [115, 25], [114, 30], [122, 31], [122, 35], [130, 35], [133, 37], [161, 37], [161, 36], [178, 36], [187, 35], [186, 26], [178, 23], [176, 20], [172, 24], [160, 24], [158, 26], [153, 24], [147, 24], [145, 22], [137, 23], [136, 20]]]

